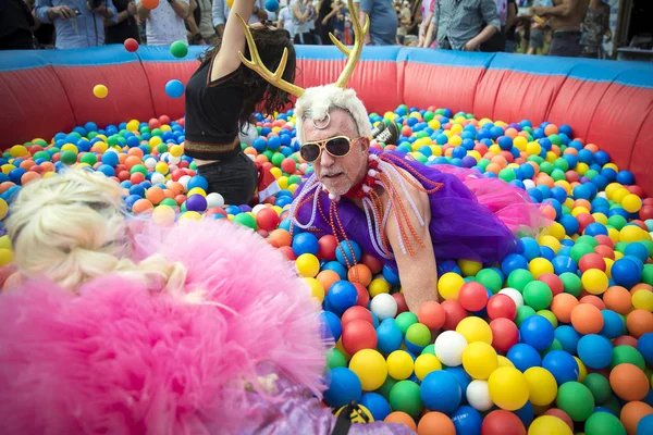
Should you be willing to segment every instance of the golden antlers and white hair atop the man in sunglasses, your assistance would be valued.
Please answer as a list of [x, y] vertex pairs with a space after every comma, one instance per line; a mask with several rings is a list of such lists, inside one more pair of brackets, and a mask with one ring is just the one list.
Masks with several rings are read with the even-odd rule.
[[[349, 7], [349, 11], [355, 11], [353, 0], [347, 0], [347, 4]], [[245, 20], [243, 20], [241, 15], [236, 15], [238, 16], [238, 20], [245, 29], [245, 38], [247, 39], [249, 52], [251, 53], [251, 60], [248, 60], [242, 52], [239, 52], [243, 63], [252, 71], [256, 71], [272, 85], [297, 97], [295, 115], [297, 119], [296, 127], [299, 142], [304, 142], [304, 119], [309, 117], [313, 121], [328, 120], [329, 111], [335, 108], [344, 109], [352, 114], [360, 136], [371, 136], [372, 132], [367, 110], [365, 109], [362, 101], [356, 97], [354, 89], [347, 88], [347, 82], [352, 77], [354, 69], [356, 67], [356, 63], [358, 63], [358, 59], [360, 58], [360, 52], [362, 51], [362, 46], [365, 45], [365, 36], [370, 28], [369, 16], [366, 17], [365, 26], [361, 26], [358, 20], [352, 20], [352, 25], [354, 26], [354, 47], [352, 49], [345, 47], [331, 33], [329, 34], [329, 37], [335, 47], [337, 47], [337, 49], [347, 57], [345, 69], [338, 76], [337, 80], [330, 85], [304, 89], [281, 78], [287, 63], [288, 50], [283, 50], [283, 55], [279, 62], [279, 66], [276, 67], [276, 71], [272, 73], [263, 64], [258, 53], [249, 26], [247, 23], [245, 23]], [[320, 124], [322, 126], [326, 126], [329, 122], [322, 122]]]

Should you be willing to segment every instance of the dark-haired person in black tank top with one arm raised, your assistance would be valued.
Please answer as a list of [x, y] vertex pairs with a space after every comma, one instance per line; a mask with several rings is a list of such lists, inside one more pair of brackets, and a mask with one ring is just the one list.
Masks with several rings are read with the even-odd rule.
[[[291, 102], [287, 92], [245, 66], [239, 58], [242, 52], [248, 60], [256, 59], [243, 32], [254, 3], [234, 1], [222, 39], [200, 57], [201, 64], [186, 85], [185, 153], [195, 159], [198, 174], [209, 182], [207, 194], [221, 194], [225, 203], [236, 206], [249, 203], [258, 185], [257, 169], [241, 148], [238, 125], [254, 121], [252, 112], [261, 105], [261, 112], [271, 114]], [[267, 23], [252, 24], [248, 30], [268, 70], [276, 71], [287, 50], [282, 78], [292, 84], [296, 61], [288, 32]]]

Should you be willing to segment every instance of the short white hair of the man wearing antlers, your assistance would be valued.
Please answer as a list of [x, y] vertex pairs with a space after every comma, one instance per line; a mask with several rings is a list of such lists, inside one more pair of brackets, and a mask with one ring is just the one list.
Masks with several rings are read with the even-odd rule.
[[295, 104], [297, 139], [304, 144], [304, 117], [316, 121], [326, 117], [326, 113], [334, 108], [345, 109], [354, 117], [358, 134], [362, 137], [372, 136], [372, 125], [367, 110], [356, 96], [354, 89], [342, 89], [335, 85], [316, 86], [306, 89]]

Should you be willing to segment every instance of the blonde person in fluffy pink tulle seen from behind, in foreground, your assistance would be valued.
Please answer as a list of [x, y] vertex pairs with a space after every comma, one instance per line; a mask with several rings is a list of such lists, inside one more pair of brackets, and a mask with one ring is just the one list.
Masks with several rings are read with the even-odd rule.
[[12, 204], [2, 434], [410, 433], [321, 406], [330, 344], [279, 251], [225, 221], [131, 220], [121, 194], [70, 170]]

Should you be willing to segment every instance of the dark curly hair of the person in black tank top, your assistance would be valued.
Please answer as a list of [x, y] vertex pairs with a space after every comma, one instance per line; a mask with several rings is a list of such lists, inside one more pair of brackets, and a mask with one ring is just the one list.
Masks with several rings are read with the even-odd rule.
[[[283, 72], [283, 79], [288, 83], [295, 82], [296, 55], [295, 47], [291, 39], [291, 34], [284, 28], [270, 28], [267, 25], [251, 28], [251, 35], [258, 49], [261, 60], [271, 72], [276, 71], [284, 48], [288, 49], [288, 61]], [[199, 61], [204, 66], [211, 62], [220, 51], [222, 39], [217, 38], [213, 47], [199, 55]], [[243, 54], [251, 59], [249, 47], [245, 44]], [[244, 64], [238, 66], [234, 79], [245, 89], [245, 99], [243, 110], [238, 116], [238, 122], [244, 128], [247, 122], [252, 122], [254, 113], [260, 112], [263, 115], [271, 115], [274, 112], [282, 112], [291, 103], [289, 95], [278, 87], [269, 84], [255, 71], [251, 71]]]

